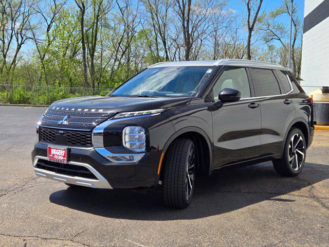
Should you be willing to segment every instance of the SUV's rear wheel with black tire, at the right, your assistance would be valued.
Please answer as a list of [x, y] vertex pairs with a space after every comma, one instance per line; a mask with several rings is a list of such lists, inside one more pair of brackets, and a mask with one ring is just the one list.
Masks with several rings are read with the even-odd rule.
[[[293, 146], [294, 148], [291, 148]], [[306, 158], [306, 142], [303, 132], [293, 128], [288, 133], [282, 158], [273, 160], [274, 169], [286, 177], [295, 177], [303, 169]]]

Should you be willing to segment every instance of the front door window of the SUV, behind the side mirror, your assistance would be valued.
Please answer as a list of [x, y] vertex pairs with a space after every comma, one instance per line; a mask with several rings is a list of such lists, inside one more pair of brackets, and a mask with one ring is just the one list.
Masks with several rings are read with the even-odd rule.
[[218, 94], [225, 88], [239, 90], [241, 92], [241, 98], [249, 98], [250, 87], [246, 69], [237, 67], [225, 68], [212, 89], [214, 100], [218, 100]]

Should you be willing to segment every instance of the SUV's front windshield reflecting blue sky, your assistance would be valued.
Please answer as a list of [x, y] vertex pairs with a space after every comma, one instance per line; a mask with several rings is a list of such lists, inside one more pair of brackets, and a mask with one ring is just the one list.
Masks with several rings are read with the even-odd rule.
[[186, 97], [196, 96], [209, 79], [211, 66], [148, 68], [109, 96]]

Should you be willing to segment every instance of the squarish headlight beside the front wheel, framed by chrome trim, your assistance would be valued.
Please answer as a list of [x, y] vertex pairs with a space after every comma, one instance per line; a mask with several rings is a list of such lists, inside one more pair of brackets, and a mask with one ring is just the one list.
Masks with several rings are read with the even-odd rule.
[[145, 151], [145, 140], [145, 130], [140, 126], [127, 126], [122, 131], [123, 146], [132, 151]]

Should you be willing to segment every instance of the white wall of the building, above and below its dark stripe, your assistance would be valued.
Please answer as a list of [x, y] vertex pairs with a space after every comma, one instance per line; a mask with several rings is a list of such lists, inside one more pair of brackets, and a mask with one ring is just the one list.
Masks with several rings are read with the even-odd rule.
[[[322, 2], [305, 0], [304, 17]], [[329, 86], [329, 17], [303, 34], [301, 69], [301, 85], [307, 94], [317, 86]]]

